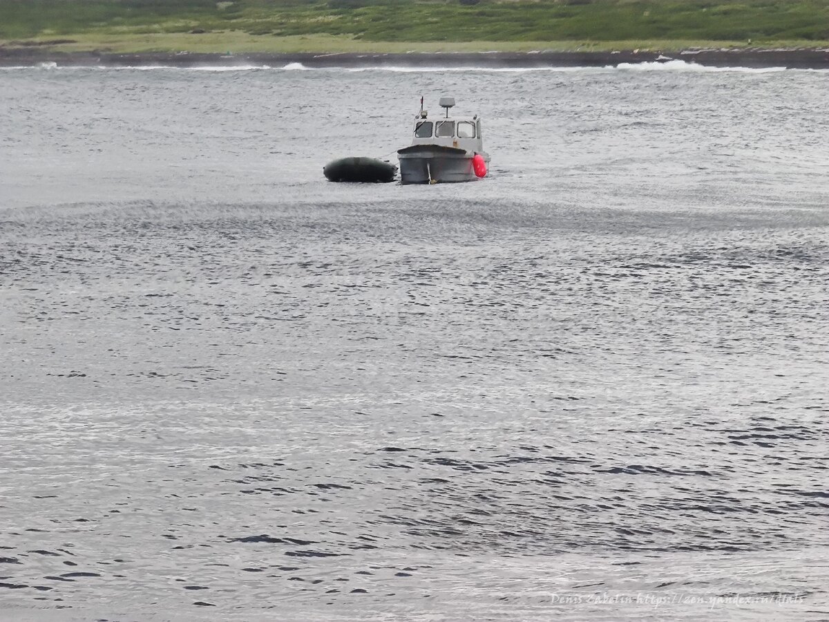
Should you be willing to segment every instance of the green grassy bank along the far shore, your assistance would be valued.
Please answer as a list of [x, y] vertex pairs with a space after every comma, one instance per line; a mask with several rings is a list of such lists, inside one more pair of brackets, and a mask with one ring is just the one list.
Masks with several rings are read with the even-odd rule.
[[829, 0], [0, 0], [0, 43], [60, 51], [827, 46]]

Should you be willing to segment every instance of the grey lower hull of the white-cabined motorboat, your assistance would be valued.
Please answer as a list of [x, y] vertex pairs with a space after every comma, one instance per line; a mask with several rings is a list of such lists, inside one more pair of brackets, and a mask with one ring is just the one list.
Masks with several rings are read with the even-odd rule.
[[[484, 161], [488, 156], [481, 154]], [[473, 167], [475, 153], [439, 145], [413, 145], [397, 152], [400, 183], [457, 183], [478, 179]]]

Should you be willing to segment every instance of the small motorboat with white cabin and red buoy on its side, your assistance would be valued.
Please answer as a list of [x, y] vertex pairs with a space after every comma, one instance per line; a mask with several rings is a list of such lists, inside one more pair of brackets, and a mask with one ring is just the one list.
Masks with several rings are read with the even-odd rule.
[[483, 150], [481, 118], [449, 117], [453, 97], [441, 97], [444, 117], [429, 119], [420, 98], [409, 147], [398, 149], [401, 183], [473, 182], [487, 176], [489, 154]]

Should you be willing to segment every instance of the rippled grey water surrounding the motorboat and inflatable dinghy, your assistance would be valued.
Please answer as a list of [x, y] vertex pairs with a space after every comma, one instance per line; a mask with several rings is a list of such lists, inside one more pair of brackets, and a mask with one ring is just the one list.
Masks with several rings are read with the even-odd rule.
[[0, 618], [826, 620], [826, 80], [0, 70]]

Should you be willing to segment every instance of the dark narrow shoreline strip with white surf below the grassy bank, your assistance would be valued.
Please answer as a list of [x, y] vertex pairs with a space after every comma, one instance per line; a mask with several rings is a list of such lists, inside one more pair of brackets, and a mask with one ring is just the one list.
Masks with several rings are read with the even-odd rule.
[[285, 66], [301, 63], [308, 68], [435, 66], [532, 69], [543, 67], [604, 67], [622, 63], [685, 61], [702, 66], [787, 69], [829, 69], [829, 49], [693, 49], [678, 52], [619, 51], [531, 51], [531, 52], [410, 52], [410, 53], [268, 53], [231, 55], [203, 52], [138, 52], [114, 54], [104, 51], [51, 51], [46, 46], [0, 46], [0, 67], [37, 66], [54, 62], [58, 66], [142, 67], [142, 66]]

